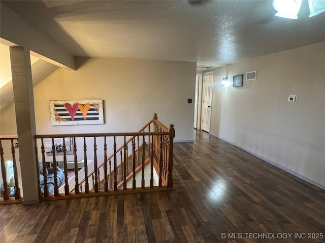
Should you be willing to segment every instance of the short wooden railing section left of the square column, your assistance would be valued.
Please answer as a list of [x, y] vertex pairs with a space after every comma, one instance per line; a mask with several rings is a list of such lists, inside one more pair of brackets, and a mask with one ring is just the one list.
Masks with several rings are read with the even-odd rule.
[[[22, 201], [22, 198], [20, 196], [20, 188], [19, 188], [19, 183], [18, 183], [18, 171], [17, 171], [17, 162], [16, 162], [16, 142], [18, 145], [18, 140], [17, 136], [0, 136], [0, 154], [1, 154], [1, 175], [2, 175], [2, 180], [1, 180], [1, 185], [0, 185], [0, 194], [1, 194], [1, 199], [0, 203], [1, 204], [6, 204], [6, 203], [17, 203]], [[6, 158], [12, 159], [12, 160], [7, 160], [5, 161], [5, 152], [4, 148], [6, 151], [11, 149], [11, 156], [6, 156]], [[8, 168], [12, 167], [12, 168]], [[12, 171], [11, 171], [12, 169]], [[11, 177], [8, 181], [8, 174], [11, 173], [9, 176]]]

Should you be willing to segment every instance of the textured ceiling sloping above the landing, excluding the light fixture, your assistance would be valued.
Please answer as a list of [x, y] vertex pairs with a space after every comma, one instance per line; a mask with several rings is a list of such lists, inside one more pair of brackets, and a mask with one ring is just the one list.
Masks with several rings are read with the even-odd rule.
[[274, 16], [272, 1], [2, 1], [76, 56], [221, 66], [325, 41], [325, 12]]

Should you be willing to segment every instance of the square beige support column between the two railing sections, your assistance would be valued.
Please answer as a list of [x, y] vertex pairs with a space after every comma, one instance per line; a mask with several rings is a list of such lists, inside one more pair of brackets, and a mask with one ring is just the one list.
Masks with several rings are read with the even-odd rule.
[[29, 50], [10, 47], [12, 84], [16, 110], [23, 204], [39, 202], [34, 135], [34, 96]]

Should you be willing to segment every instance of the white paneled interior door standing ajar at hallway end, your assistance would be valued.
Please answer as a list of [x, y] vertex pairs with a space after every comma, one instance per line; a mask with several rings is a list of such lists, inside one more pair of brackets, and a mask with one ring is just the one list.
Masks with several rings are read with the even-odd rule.
[[202, 130], [210, 133], [211, 122], [211, 104], [212, 104], [212, 87], [213, 87], [213, 72], [203, 74], [202, 87]]

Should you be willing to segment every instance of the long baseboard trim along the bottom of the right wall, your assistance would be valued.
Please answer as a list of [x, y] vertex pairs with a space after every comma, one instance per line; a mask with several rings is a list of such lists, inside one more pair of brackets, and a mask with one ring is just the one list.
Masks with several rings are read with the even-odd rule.
[[302, 180], [304, 180], [304, 181], [306, 181], [306, 182], [308, 182], [308, 183], [310, 183], [310, 184], [312, 184], [312, 185], [314, 185], [314, 186], [317, 186], [318, 188], [320, 188], [320, 189], [322, 189], [322, 190], [325, 190], [325, 186], [323, 186], [323, 185], [321, 185], [321, 184], [319, 184], [319, 183], [317, 183], [317, 182], [314, 182], [313, 180], [310, 180], [309, 178], [304, 177], [304, 176], [298, 174], [297, 172], [291, 171], [291, 170], [289, 170], [288, 168], [286, 168], [286, 167], [284, 167], [284, 166], [281, 166], [281, 165], [275, 163], [274, 161], [272, 161], [272, 160], [270, 160], [270, 159], [268, 159], [268, 158], [265, 158], [265, 157], [263, 157], [263, 156], [261, 156], [261, 155], [259, 155], [259, 154], [257, 154], [257, 153], [254, 153], [254, 152], [248, 150], [247, 148], [244, 148], [244, 147], [242, 147], [242, 146], [240, 146], [240, 145], [238, 145], [238, 144], [236, 144], [236, 143], [233, 143], [233, 142], [231, 142], [231, 141], [229, 141], [229, 140], [227, 140], [227, 139], [225, 139], [225, 138], [219, 137], [219, 136], [214, 135], [214, 134], [212, 134], [212, 133], [210, 133], [210, 134], [211, 134], [212, 136], [214, 136], [214, 137], [217, 137], [217, 138], [219, 138], [219, 139], [221, 139], [221, 140], [223, 140], [223, 141], [225, 141], [225, 142], [228, 142], [228, 143], [230, 143], [230, 144], [232, 144], [232, 145], [234, 145], [234, 146], [236, 146], [236, 147], [238, 147], [238, 148], [240, 148], [240, 149], [246, 151], [247, 153], [250, 153], [250, 154], [254, 155], [254, 156], [257, 157], [257, 158], [260, 158], [260, 159], [266, 161], [267, 163], [269, 163], [269, 164], [271, 164], [271, 165], [273, 165], [273, 166], [275, 166], [275, 167], [277, 167], [277, 168], [279, 168], [279, 169], [281, 169], [281, 170], [283, 170], [283, 171], [285, 171], [285, 172], [287, 172], [287, 173], [289, 173], [289, 174], [291, 174], [291, 175], [293, 175], [293, 176], [298, 177], [299, 179], [302, 179]]

